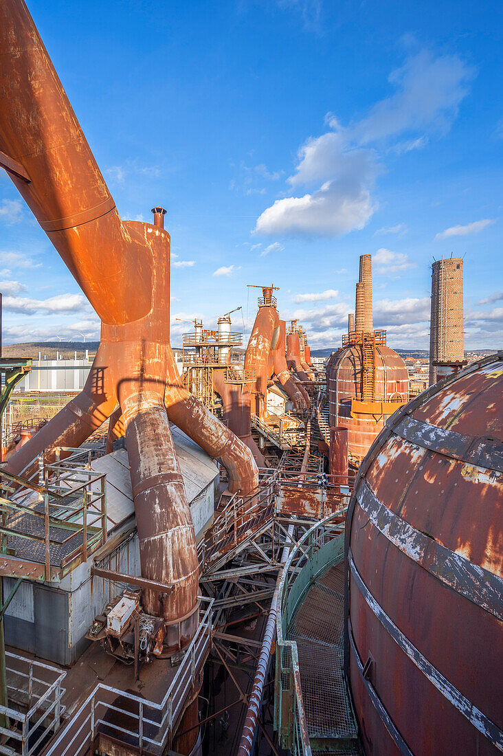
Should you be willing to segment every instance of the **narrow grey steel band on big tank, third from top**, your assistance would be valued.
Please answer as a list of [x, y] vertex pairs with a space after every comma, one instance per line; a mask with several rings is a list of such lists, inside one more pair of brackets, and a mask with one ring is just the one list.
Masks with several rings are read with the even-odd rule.
[[[489, 742], [492, 743], [492, 745], [495, 745], [495, 747], [498, 748], [499, 751], [503, 751], [503, 732], [501, 732], [499, 727], [495, 725], [495, 723], [492, 722], [489, 717], [486, 717], [486, 714], [483, 714], [483, 712], [480, 711], [477, 706], [475, 706], [465, 696], [463, 696], [463, 694], [459, 692], [459, 690], [455, 688], [455, 686], [452, 685], [452, 683], [450, 683], [449, 680], [447, 680], [447, 678], [444, 677], [442, 673], [436, 669], [436, 667], [433, 667], [433, 665], [428, 662], [427, 658], [424, 658], [421, 652], [418, 651], [418, 649], [411, 643], [411, 641], [408, 640], [407, 637], [405, 637], [402, 631], [400, 631], [399, 628], [396, 627], [396, 624], [394, 624], [394, 622], [388, 617], [380, 604], [377, 603], [377, 601], [374, 599], [374, 596], [372, 596], [371, 592], [368, 590], [368, 587], [362, 580], [361, 575], [356, 569], [355, 562], [353, 562], [352, 551], [350, 549], [349, 570], [356, 582], [357, 587], [359, 588], [360, 593], [362, 593], [365, 602], [377, 617], [377, 619], [380, 621], [380, 624], [383, 625], [387, 633], [390, 634], [390, 636], [393, 638], [397, 646], [399, 646], [399, 648], [402, 649], [403, 652], [405, 652], [408, 658], [410, 658], [411, 661], [414, 662], [418, 670], [421, 671], [428, 678], [428, 680], [430, 680], [430, 683], [432, 683], [436, 687], [436, 689], [442, 693], [442, 696], [444, 696], [450, 703], [452, 703], [452, 705], [455, 706], [455, 708], [457, 708], [458, 711], [463, 714], [463, 716], [466, 717], [467, 720], [469, 720], [470, 723], [473, 724], [474, 727], [476, 727], [477, 730], [479, 730], [479, 732], [489, 740]], [[349, 640], [352, 640], [351, 636]], [[353, 651], [356, 650], [354, 642], [352, 643], [352, 648]]]

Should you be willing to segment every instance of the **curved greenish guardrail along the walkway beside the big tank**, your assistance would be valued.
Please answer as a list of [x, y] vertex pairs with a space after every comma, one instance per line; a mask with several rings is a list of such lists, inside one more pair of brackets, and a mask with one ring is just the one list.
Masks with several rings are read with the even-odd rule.
[[[294, 756], [311, 756], [309, 727], [300, 680], [299, 655], [295, 640], [288, 640], [290, 621], [313, 580], [315, 554], [332, 542], [332, 561], [343, 554], [343, 523], [334, 522], [346, 511], [325, 517], [317, 522], [297, 541], [290, 550], [281, 573], [276, 615], [276, 676], [275, 676], [275, 731], [281, 748], [291, 751]], [[336, 540], [337, 539], [337, 540]], [[321, 560], [322, 569], [330, 561]], [[314, 567], [314, 569], [313, 569]], [[319, 572], [319, 570], [318, 570]], [[296, 587], [295, 600], [290, 599], [293, 584]]]

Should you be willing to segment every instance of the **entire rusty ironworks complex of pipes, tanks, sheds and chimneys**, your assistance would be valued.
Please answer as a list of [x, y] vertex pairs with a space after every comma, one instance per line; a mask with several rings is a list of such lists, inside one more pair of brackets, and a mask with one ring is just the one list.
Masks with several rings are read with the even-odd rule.
[[[365, 254], [326, 381], [272, 283], [180, 374], [166, 210], [120, 217], [21, 0], [0, 53], [0, 164], [101, 318], [0, 466], [0, 754], [503, 751], [503, 354], [408, 401]], [[33, 367], [0, 355], [0, 414]]]

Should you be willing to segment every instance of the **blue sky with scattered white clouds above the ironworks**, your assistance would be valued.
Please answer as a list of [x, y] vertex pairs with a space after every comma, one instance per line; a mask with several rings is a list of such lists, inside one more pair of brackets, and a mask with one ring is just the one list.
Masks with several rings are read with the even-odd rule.
[[[123, 218], [167, 209], [172, 345], [175, 318], [239, 305], [249, 333], [247, 283], [273, 282], [335, 349], [371, 253], [374, 327], [427, 348], [430, 264], [452, 253], [465, 347], [501, 349], [501, 2], [28, 5]], [[98, 338], [4, 172], [0, 290], [5, 342]]]

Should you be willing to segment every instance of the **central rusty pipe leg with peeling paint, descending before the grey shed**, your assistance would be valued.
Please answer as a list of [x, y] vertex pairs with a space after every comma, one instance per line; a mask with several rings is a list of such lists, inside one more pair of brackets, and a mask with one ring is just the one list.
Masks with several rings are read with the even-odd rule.
[[158, 392], [129, 384], [121, 393], [141, 575], [173, 585], [166, 596], [145, 590], [144, 611], [167, 621], [186, 618], [185, 646], [197, 627], [197, 549], [166, 408]]

